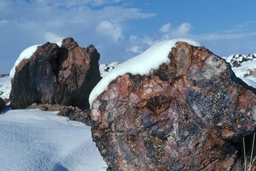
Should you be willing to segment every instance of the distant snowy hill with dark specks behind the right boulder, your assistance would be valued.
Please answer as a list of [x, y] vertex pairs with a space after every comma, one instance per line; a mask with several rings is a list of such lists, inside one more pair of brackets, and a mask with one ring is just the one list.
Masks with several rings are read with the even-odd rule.
[[241, 78], [246, 84], [256, 87], [256, 53], [237, 54], [223, 58], [231, 64], [236, 77]]

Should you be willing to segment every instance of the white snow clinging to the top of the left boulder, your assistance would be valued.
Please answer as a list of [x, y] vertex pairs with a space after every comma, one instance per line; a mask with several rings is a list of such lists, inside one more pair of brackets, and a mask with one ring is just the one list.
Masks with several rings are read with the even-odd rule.
[[[56, 44], [57, 44], [59, 47], [61, 47], [62, 41], [61, 41], [61, 42], [57, 42]], [[16, 70], [15, 70], [16, 66], [18, 66], [22, 60], [30, 59], [30, 57], [36, 52], [38, 46], [40, 46], [40, 45], [42, 45], [42, 44], [32, 45], [32, 46], [26, 48], [25, 50], [23, 50], [23, 51], [20, 53], [19, 58], [16, 60], [14, 66], [12, 67], [12, 69], [11, 69], [11, 71], [10, 71], [10, 77], [11, 77], [11, 78], [14, 78], [15, 71], [16, 71]]]

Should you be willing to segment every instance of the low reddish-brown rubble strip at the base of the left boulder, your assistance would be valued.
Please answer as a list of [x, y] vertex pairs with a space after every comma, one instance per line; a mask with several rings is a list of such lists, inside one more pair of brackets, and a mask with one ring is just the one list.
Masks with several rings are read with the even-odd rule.
[[36, 104], [33, 103], [27, 109], [39, 108], [43, 111], [59, 111], [59, 116], [69, 117], [72, 121], [79, 121], [88, 126], [91, 126], [91, 112], [90, 109], [80, 109], [78, 107], [66, 107], [62, 105], [51, 105], [51, 104]]

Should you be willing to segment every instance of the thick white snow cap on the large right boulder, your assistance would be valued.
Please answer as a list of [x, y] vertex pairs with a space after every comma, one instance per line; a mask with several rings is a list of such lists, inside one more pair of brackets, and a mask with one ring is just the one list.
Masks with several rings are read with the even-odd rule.
[[202, 46], [202, 44], [198, 42], [183, 38], [163, 41], [153, 45], [145, 52], [122, 64], [119, 64], [115, 69], [106, 74], [90, 94], [90, 107], [92, 107], [93, 100], [97, 98], [100, 93], [106, 90], [109, 83], [118, 76], [125, 73], [148, 75], [151, 69], [158, 69], [159, 65], [162, 63], [170, 62], [168, 54], [177, 42], [186, 42], [193, 46]]

